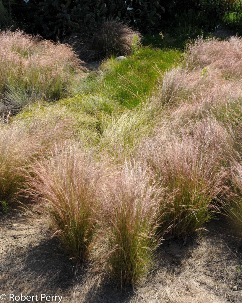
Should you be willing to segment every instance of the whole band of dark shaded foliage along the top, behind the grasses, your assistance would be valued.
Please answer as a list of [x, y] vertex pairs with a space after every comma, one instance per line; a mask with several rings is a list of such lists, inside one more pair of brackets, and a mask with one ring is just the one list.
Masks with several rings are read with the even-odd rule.
[[[218, 24], [241, 27], [242, 0], [0, 0], [0, 28], [13, 25], [44, 38], [88, 41], [103, 21], [113, 19], [143, 35], [168, 32], [174, 38], [213, 32]], [[236, 9], [235, 9], [236, 6]], [[230, 10], [235, 11], [229, 15]], [[235, 18], [236, 17], [236, 18]], [[227, 23], [225, 22], [227, 21]]]

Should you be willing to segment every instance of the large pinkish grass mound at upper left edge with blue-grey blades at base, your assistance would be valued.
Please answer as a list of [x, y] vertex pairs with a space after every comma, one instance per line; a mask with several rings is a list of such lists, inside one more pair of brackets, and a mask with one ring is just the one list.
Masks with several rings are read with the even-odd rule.
[[11, 114], [59, 98], [82, 63], [69, 45], [20, 30], [0, 33], [0, 57], [0, 108]]

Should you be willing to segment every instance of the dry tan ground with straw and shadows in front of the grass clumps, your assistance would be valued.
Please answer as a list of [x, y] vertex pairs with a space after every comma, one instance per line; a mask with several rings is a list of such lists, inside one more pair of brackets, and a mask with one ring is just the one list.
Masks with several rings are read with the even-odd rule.
[[181, 239], [166, 238], [156, 267], [133, 288], [116, 286], [105, 262], [96, 267], [103, 253], [100, 239], [88, 264], [77, 268], [57, 239], [51, 239], [38, 212], [0, 216], [0, 231], [0, 295], [7, 295], [5, 302], [10, 293], [59, 295], [64, 303], [242, 302], [242, 249], [227, 235], [221, 218], [185, 245]]

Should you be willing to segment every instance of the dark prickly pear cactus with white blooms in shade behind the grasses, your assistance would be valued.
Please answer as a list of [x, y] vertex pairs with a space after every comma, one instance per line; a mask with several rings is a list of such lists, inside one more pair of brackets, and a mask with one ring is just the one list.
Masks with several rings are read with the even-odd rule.
[[151, 31], [161, 20], [164, 8], [157, 0], [140, 0], [129, 3], [128, 1], [114, 0], [30, 0], [23, 3], [27, 8], [27, 18], [31, 30], [43, 33], [46, 37], [56, 34], [71, 32], [86, 35], [95, 32], [104, 20], [114, 18], [130, 25]]

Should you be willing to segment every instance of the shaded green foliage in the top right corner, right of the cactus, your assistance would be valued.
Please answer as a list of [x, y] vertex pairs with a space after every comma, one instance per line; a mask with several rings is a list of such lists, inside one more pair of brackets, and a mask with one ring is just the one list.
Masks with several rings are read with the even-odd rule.
[[[165, 31], [183, 48], [188, 38], [208, 35], [219, 29], [241, 31], [241, 0], [186, 0], [168, 3]], [[236, 33], [236, 32], [235, 32]], [[235, 34], [234, 33], [234, 34]]]

